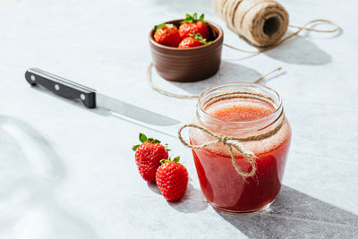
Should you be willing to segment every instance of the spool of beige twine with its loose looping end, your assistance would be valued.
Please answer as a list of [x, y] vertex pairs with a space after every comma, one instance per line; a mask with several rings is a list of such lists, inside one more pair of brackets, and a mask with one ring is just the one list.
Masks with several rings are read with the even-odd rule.
[[[260, 53], [278, 46], [288, 38], [292, 38], [302, 30], [316, 32], [335, 32], [339, 29], [337, 23], [317, 19], [303, 26], [289, 25], [286, 9], [274, 0], [213, 0], [215, 13], [224, 21], [230, 30], [245, 39], [248, 43], [260, 48], [258, 51], [246, 51], [226, 45], [239, 51]], [[333, 25], [332, 30], [316, 30], [307, 26], [314, 22], [325, 22]], [[292, 34], [284, 35], [288, 27], [296, 28]]]

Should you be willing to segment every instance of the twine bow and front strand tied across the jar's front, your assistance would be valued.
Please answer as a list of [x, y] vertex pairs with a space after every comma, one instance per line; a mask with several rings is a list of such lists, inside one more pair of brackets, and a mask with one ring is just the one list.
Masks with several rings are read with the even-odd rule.
[[[178, 138], [183, 143], [183, 145], [189, 149], [204, 149], [204, 148], [208, 148], [210, 145], [222, 143], [223, 145], [225, 145], [227, 147], [227, 149], [229, 149], [231, 162], [232, 162], [236, 172], [239, 175], [243, 175], [244, 177], [249, 177], [249, 176], [255, 175], [256, 171], [257, 171], [257, 166], [256, 166], [256, 161], [255, 161], [256, 155], [252, 151], [245, 149], [242, 142], [261, 141], [261, 140], [268, 139], [269, 137], [275, 135], [282, 128], [282, 126], [285, 123], [285, 120], [286, 120], [285, 115], [282, 115], [282, 119], [281, 119], [280, 123], [277, 124], [277, 126], [274, 129], [272, 129], [268, 132], [264, 132], [264, 133], [260, 133], [258, 135], [253, 135], [253, 136], [248, 136], [248, 137], [228, 136], [228, 135], [224, 135], [219, 132], [209, 131], [207, 128], [204, 128], [203, 126], [201, 126], [199, 124], [184, 124], [178, 131]], [[185, 128], [199, 129], [200, 131], [206, 133], [208, 136], [214, 138], [214, 140], [200, 144], [200, 145], [193, 145], [191, 143], [188, 143], [187, 141], [185, 141], [183, 139], [183, 136], [182, 136], [182, 131]], [[233, 148], [236, 149], [237, 151], [239, 151], [240, 154], [243, 155], [243, 157], [246, 158], [246, 160], [251, 164], [252, 168], [249, 173], [244, 172], [239, 166], [237, 166], [235, 158], [234, 158]]]

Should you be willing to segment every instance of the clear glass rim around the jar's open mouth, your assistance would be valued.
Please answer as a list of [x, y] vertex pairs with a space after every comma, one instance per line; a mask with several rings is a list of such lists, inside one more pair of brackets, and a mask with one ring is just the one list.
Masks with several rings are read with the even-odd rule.
[[[223, 120], [223, 119], [220, 119], [220, 118], [217, 118], [217, 117], [214, 117], [212, 115], [209, 115], [206, 110], [203, 108], [203, 102], [202, 102], [202, 99], [208, 95], [211, 91], [213, 90], [217, 90], [221, 87], [226, 87], [226, 86], [234, 86], [235, 84], [240, 84], [241, 86], [244, 86], [244, 87], [253, 87], [253, 88], [257, 88], [259, 90], [267, 90], [268, 92], [270, 92], [271, 94], [274, 95], [274, 97], [277, 98], [277, 100], [273, 100], [275, 101], [275, 105], [272, 104], [273, 107], [275, 107], [275, 110], [269, 114], [269, 115], [266, 115], [262, 118], [259, 118], [259, 119], [255, 119], [255, 120], [252, 120], [252, 121], [227, 121], [227, 120]], [[209, 89], [207, 90], [204, 90], [201, 94], [200, 94], [200, 98], [198, 98], [198, 102], [197, 102], [197, 108], [200, 109], [200, 112], [202, 114], [205, 115], [205, 117], [208, 117], [210, 120], [214, 120], [216, 121], [217, 123], [220, 123], [220, 124], [240, 124], [240, 125], [245, 125], [245, 124], [260, 124], [260, 122], [265, 122], [267, 121], [269, 118], [272, 118], [274, 115], [278, 115], [278, 117], [281, 115], [280, 114], [280, 111], [282, 111], [282, 98], [280, 97], [280, 95], [277, 93], [276, 90], [273, 90], [272, 88], [269, 88], [267, 86], [264, 86], [260, 83], [252, 83], [252, 82], [245, 82], [245, 81], [234, 81], [234, 82], [228, 82], [228, 83], [222, 83], [222, 84], [218, 84], [218, 85], [215, 85], [215, 86], [212, 86], [210, 87]], [[197, 112], [198, 114], [198, 112]], [[277, 117], [277, 118], [278, 118]], [[275, 120], [277, 120], [274, 119]]]

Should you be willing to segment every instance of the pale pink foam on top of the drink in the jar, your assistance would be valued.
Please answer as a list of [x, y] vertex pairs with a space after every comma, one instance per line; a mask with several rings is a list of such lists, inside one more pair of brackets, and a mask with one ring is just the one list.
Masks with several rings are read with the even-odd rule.
[[[258, 120], [265, 116], [272, 114], [275, 111], [275, 107], [271, 106], [267, 102], [259, 99], [245, 99], [234, 98], [221, 100], [214, 103], [205, 109], [208, 115], [216, 117], [218, 119], [230, 122], [249, 122]], [[239, 130], [239, 129], [238, 129]], [[259, 134], [262, 132], [252, 132], [252, 134]], [[240, 137], [240, 135], [239, 135]], [[275, 135], [268, 139], [261, 141], [243, 142], [246, 149], [253, 151], [256, 155], [276, 149], [285, 141], [288, 141], [290, 137], [290, 128], [285, 123], [282, 128]], [[202, 144], [211, 141], [204, 132], [193, 130], [192, 142], [194, 144]], [[210, 146], [208, 148], [211, 152], [229, 157], [229, 150], [222, 144]], [[237, 155], [237, 152], [235, 153]]]

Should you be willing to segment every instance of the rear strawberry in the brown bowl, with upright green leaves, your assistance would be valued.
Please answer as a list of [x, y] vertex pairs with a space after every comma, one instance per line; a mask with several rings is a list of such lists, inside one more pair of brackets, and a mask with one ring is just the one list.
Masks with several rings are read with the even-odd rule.
[[207, 23], [204, 21], [204, 14], [201, 14], [197, 19], [197, 13], [193, 15], [186, 14], [186, 19], [180, 22], [179, 34], [181, 38], [189, 37], [189, 34], [199, 33], [202, 38], [209, 39], [209, 29]]

